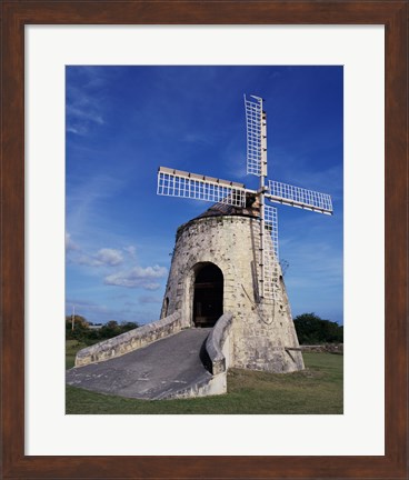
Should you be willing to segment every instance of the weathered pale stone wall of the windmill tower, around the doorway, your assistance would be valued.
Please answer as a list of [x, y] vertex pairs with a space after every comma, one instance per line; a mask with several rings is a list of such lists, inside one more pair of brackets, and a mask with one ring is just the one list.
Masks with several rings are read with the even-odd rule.
[[162, 317], [176, 311], [182, 328], [192, 327], [194, 276], [203, 263], [223, 273], [223, 312], [231, 312], [232, 367], [273, 372], [303, 368], [287, 292], [281, 280], [278, 300], [256, 302], [259, 222], [251, 217], [206, 217], [180, 227], [163, 299]]

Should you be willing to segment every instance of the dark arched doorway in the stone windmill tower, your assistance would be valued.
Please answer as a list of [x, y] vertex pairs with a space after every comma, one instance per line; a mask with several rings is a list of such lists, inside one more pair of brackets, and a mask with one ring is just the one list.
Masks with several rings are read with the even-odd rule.
[[213, 263], [203, 263], [196, 271], [193, 323], [213, 327], [223, 314], [223, 274]]

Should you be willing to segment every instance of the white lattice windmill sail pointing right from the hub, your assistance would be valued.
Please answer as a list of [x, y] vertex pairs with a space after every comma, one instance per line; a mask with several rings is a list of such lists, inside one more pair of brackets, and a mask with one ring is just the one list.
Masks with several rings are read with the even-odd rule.
[[332, 201], [329, 194], [301, 187], [269, 180], [269, 193], [266, 193], [266, 198], [276, 203], [332, 214]]

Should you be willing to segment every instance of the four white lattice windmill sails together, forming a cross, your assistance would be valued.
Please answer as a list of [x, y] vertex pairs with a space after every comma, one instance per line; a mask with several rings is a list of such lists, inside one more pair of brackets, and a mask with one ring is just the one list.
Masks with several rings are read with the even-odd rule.
[[257, 199], [259, 218], [258, 294], [259, 304], [273, 303], [279, 289], [278, 216], [277, 208], [266, 204], [280, 203], [323, 214], [332, 214], [331, 197], [305, 188], [267, 179], [267, 114], [260, 97], [245, 94], [247, 124], [247, 173], [259, 177], [258, 190], [242, 183], [203, 174], [160, 167], [157, 193], [246, 207], [247, 198]]

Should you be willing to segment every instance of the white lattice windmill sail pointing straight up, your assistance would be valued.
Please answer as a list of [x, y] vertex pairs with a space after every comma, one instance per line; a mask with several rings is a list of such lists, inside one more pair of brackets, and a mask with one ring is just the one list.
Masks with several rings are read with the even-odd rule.
[[245, 96], [247, 126], [247, 173], [262, 174], [262, 99]]

